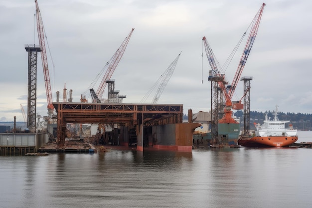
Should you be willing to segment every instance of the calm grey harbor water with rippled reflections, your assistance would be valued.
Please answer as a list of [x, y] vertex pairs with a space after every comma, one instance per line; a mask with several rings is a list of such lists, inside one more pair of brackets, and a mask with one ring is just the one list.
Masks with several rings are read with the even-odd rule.
[[[312, 132], [299, 132], [312, 142]], [[311, 208], [312, 149], [0, 157], [0, 208]]]

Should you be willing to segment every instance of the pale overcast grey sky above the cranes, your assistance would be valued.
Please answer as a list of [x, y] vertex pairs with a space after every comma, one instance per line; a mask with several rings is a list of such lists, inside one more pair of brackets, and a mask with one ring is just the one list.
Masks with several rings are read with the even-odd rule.
[[[72, 89], [91, 102], [88, 87], [135, 28], [112, 79], [127, 95], [123, 103], [140, 103], [181, 52], [173, 75], [157, 104], [183, 104], [183, 112], [211, 108], [211, 70], [205, 36], [220, 65], [247, 31], [263, 1], [259, 0], [38, 0], [46, 34], [53, 102]], [[312, 1], [267, 0], [259, 30], [242, 72], [252, 76], [250, 110], [312, 113]], [[39, 44], [34, 0], [0, 0], [0, 121], [24, 121], [27, 112], [28, 53]], [[248, 35], [225, 71], [232, 82]], [[48, 42], [48, 44], [47, 44]], [[48, 47], [49, 51], [48, 52]], [[203, 55], [202, 55], [203, 54]], [[104, 74], [103, 74], [104, 75]], [[102, 79], [102, 77], [100, 78]], [[94, 89], [99, 82], [94, 85]], [[107, 88], [106, 88], [107, 91]], [[155, 92], [156, 93], [156, 92]], [[107, 94], [104, 94], [107, 96]], [[232, 100], [243, 96], [239, 81]], [[152, 103], [152, 94], [146, 103]], [[68, 98], [68, 96], [67, 96]], [[37, 66], [37, 114], [47, 115], [41, 56]]]

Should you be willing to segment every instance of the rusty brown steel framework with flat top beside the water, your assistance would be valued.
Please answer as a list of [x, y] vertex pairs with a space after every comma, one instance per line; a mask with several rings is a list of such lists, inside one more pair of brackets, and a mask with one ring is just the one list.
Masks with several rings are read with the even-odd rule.
[[183, 105], [53, 103], [57, 113], [57, 145], [64, 147], [67, 123], [121, 124], [129, 128], [183, 123]]

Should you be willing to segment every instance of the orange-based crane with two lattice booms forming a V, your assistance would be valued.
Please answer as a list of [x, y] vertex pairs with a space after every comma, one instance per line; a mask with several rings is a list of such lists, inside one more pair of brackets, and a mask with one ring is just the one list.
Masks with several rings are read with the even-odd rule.
[[209, 45], [208, 45], [207, 41], [205, 41], [205, 38], [203, 38], [208, 61], [210, 63], [212, 71], [214, 71], [214, 73], [215, 73], [214, 75], [216, 75], [217, 77], [220, 77], [220, 80], [217, 80], [217, 81], [218, 81], [218, 84], [219, 84], [220, 88], [222, 89], [222, 94], [223, 94], [223, 97], [225, 99], [224, 116], [223, 116], [222, 119], [219, 120], [219, 123], [237, 123], [232, 118], [232, 110], [231, 110], [232, 109], [232, 101], [231, 101], [231, 99], [233, 97], [235, 88], [236, 88], [237, 83], [239, 81], [239, 78], [240, 78], [240, 76], [242, 74], [244, 66], [246, 64], [247, 58], [248, 58], [248, 56], [250, 54], [250, 50], [252, 48], [252, 45], [253, 45], [253, 43], [255, 41], [255, 38], [256, 38], [256, 35], [257, 35], [257, 32], [258, 32], [258, 28], [259, 28], [259, 24], [260, 24], [260, 20], [261, 20], [261, 16], [262, 16], [263, 9], [264, 9], [265, 5], [266, 5], [265, 3], [262, 4], [262, 6], [260, 7], [260, 9], [257, 12], [256, 16], [253, 19], [251, 31], [250, 31], [250, 34], [249, 34], [246, 46], [244, 48], [242, 57], [241, 57], [240, 62], [238, 64], [238, 68], [236, 70], [236, 73], [235, 73], [235, 76], [234, 76], [234, 79], [233, 79], [233, 82], [232, 82], [231, 85], [227, 85], [225, 87], [224, 76], [223, 75], [218, 75], [219, 72], [214, 67], [215, 66], [215, 63], [213, 62], [214, 59], [211, 58], [212, 56], [210, 56], [209, 55], [210, 53], [207, 52], [207, 48], [209, 49]]

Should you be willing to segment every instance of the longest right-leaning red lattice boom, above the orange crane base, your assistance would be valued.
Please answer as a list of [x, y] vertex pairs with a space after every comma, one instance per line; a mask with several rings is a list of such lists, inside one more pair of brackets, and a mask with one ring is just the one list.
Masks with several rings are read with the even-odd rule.
[[228, 101], [231, 101], [232, 97], [233, 97], [233, 94], [234, 94], [234, 91], [235, 91], [235, 88], [236, 88], [236, 85], [239, 81], [239, 78], [243, 72], [243, 69], [244, 69], [244, 66], [245, 66], [245, 63], [247, 61], [247, 58], [249, 56], [249, 53], [250, 53], [250, 50], [251, 50], [251, 47], [255, 41], [255, 38], [256, 38], [256, 35], [257, 35], [257, 32], [258, 32], [258, 28], [259, 28], [259, 24], [260, 24], [260, 20], [261, 20], [261, 16], [262, 16], [262, 13], [263, 13], [263, 9], [264, 9], [264, 6], [266, 4], [263, 3], [262, 6], [260, 7], [258, 13], [256, 14], [254, 20], [253, 20], [253, 26], [252, 26], [252, 29], [250, 31], [250, 34], [249, 34], [249, 37], [248, 37], [248, 41], [246, 43], [246, 46], [245, 46], [245, 49], [243, 51], [243, 54], [242, 54], [242, 57], [241, 57], [241, 60], [238, 64], [238, 67], [237, 67], [237, 70], [236, 70], [236, 73], [235, 73], [235, 76], [234, 76], [234, 79], [233, 79], [233, 82], [232, 82], [232, 85], [231, 85], [231, 88], [229, 90], [229, 96], [228, 96]]

